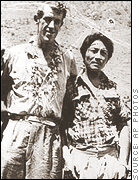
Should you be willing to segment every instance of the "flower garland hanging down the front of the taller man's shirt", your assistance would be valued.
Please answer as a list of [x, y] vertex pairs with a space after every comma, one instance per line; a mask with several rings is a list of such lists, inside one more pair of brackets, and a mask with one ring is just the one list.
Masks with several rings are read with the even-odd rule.
[[24, 86], [24, 90], [31, 92], [34, 98], [30, 113], [43, 117], [54, 113], [51, 102], [57, 96], [58, 65], [62, 62], [56, 45], [50, 56], [52, 60], [48, 66], [37, 65], [37, 63], [32, 66], [31, 81]]

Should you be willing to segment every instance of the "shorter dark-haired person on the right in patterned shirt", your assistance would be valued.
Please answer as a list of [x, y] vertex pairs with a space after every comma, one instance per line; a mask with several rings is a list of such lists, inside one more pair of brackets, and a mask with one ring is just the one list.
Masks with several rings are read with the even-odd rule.
[[63, 104], [65, 169], [77, 179], [126, 178], [130, 109], [117, 84], [102, 71], [112, 57], [113, 43], [95, 33], [85, 38], [80, 52], [85, 68], [68, 80]]

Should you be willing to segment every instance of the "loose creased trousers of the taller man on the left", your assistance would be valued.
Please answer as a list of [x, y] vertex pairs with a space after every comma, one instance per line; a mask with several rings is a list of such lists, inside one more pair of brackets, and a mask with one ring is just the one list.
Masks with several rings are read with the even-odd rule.
[[59, 126], [9, 120], [1, 142], [1, 179], [61, 179]]

